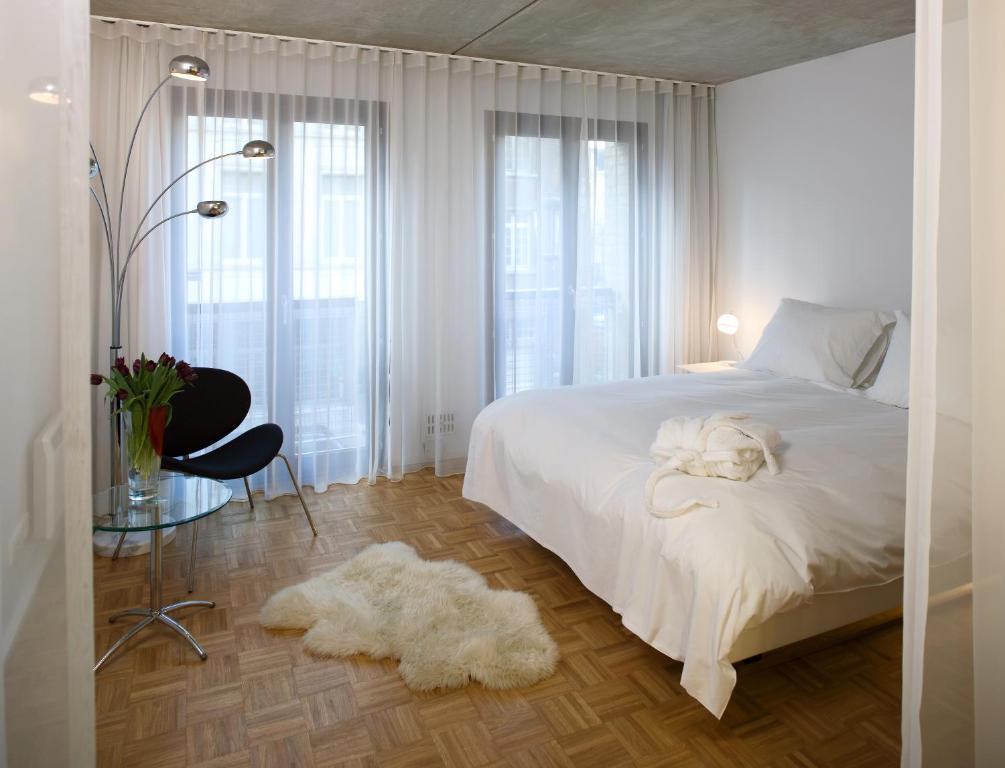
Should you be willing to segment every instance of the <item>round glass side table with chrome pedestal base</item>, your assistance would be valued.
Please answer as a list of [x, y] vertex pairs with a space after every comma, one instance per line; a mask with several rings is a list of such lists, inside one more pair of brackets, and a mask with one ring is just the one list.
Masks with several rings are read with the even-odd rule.
[[182, 600], [170, 605], [164, 604], [161, 585], [162, 535], [166, 528], [182, 526], [212, 515], [229, 502], [231, 496], [233, 494], [230, 489], [222, 483], [188, 474], [162, 475], [157, 498], [142, 504], [130, 504], [129, 489], [126, 486], [116, 486], [94, 495], [91, 521], [93, 531], [150, 532], [150, 607], [129, 608], [109, 618], [110, 622], [115, 622], [124, 616], [141, 617], [98, 659], [94, 664], [95, 673], [117, 650], [157, 621], [170, 626], [188, 640], [199, 657], [205, 660], [206, 651], [192, 633], [168, 614], [181, 608], [212, 608], [216, 603], [211, 600]]

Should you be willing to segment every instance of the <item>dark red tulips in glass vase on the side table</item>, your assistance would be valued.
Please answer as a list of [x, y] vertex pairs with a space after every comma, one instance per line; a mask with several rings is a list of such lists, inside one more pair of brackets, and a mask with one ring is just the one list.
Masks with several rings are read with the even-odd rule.
[[157, 496], [164, 429], [171, 421], [171, 398], [197, 378], [188, 363], [176, 362], [166, 352], [156, 361], [141, 355], [133, 361], [132, 370], [125, 358], [117, 358], [108, 376], [90, 375], [91, 384], [108, 385], [106, 396], [117, 402], [115, 412], [123, 416], [131, 502]]

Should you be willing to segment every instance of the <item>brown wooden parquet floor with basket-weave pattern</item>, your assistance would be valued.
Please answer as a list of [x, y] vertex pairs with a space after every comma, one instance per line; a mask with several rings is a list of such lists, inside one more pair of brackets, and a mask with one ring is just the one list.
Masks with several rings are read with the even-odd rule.
[[[255, 510], [232, 503], [201, 524], [194, 597], [215, 609], [182, 620], [200, 661], [169, 630], [134, 640], [95, 679], [99, 766], [878, 766], [899, 747], [900, 627], [740, 667], [722, 721], [679, 687], [680, 665], [625, 630], [555, 556], [460, 498], [459, 477], [335, 487]], [[165, 597], [184, 598], [191, 527], [165, 549]], [[372, 542], [401, 540], [454, 558], [494, 587], [530, 592], [561, 646], [534, 688], [413, 694], [394, 662], [326, 660], [298, 633], [263, 630], [280, 587]], [[147, 558], [94, 559], [96, 651], [124, 630], [116, 610], [145, 604]], [[128, 622], [127, 622], [128, 623]], [[802, 650], [802, 649], [801, 649]]]

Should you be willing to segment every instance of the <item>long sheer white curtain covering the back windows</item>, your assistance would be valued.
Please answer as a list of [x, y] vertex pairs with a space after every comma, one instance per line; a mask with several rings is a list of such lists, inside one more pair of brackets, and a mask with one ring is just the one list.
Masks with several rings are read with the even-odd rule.
[[460, 471], [495, 397], [714, 354], [714, 89], [95, 19], [107, 147], [183, 52], [212, 75], [161, 97], [137, 197], [249, 139], [277, 155], [166, 199], [230, 213], [150, 238], [131, 352], [243, 376], [304, 483]]

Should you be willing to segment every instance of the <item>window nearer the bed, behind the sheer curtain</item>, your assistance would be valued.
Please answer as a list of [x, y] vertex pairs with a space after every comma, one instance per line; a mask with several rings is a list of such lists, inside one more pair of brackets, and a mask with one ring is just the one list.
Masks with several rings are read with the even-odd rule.
[[644, 126], [495, 113], [495, 393], [629, 375]]

